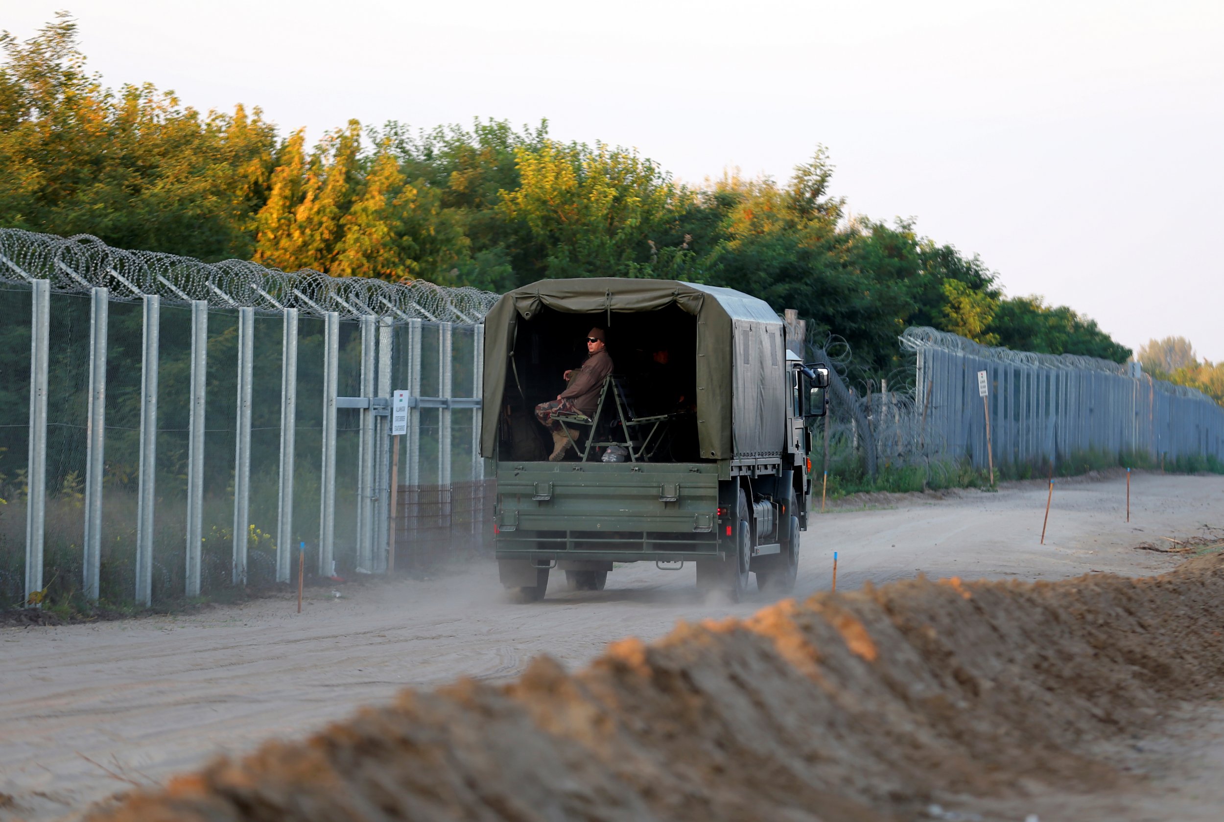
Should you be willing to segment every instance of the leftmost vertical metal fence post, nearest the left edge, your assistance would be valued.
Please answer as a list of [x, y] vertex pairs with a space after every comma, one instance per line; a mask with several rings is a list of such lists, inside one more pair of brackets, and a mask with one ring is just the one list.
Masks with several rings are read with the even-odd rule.
[[[47, 517], [47, 361], [50, 351], [49, 280], [34, 280], [29, 327], [29, 461], [26, 464], [26, 602], [43, 590]], [[34, 599], [38, 604], [38, 599]]]

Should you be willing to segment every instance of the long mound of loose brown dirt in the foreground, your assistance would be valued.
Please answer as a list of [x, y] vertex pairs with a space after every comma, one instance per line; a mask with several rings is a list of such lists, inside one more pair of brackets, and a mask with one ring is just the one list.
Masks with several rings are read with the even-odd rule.
[[918, 580], [614, 643], [567, 674], [404, 691], [95, 820], [897, 820], [1105, 788], [1093, 745], [1214, 695], [1224, 561], [1160, 577]]

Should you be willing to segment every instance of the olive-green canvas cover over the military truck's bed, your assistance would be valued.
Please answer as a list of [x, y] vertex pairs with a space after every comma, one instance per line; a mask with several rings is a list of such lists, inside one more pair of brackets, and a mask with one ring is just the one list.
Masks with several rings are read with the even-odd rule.
[[[542, 308], [591, 314], [614, 328], [613, 312], [678, 306], [696, 318], [696, 417], [703, 459], [781, 455], [786, 424], [786, 341], [769, 303], [734, 289], [677, 280], [540, 280], [502, 296], [485, 317], [481, 455], [493, 456], [497, 417], [518, 323]], [[614, 357], [614, 352], [613, 352]], [[510, 377], [513, 380], [513, 376]]]

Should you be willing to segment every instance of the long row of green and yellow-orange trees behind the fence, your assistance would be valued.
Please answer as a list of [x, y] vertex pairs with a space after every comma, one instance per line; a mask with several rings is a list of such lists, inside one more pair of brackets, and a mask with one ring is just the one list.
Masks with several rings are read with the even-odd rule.
[[0, 48], [2, 225], [496, 291], [543, 276], [726, 285], [798, 309], [818, 339], [841, 335], [875, 377], [901, 363], [907, 325], [1130, 355], [1070, 308], [1005, 298], [980, 259], [911, 220], [847, 219], [824, 147], [785, 183], [723, 174], [696, 188], [636, 150], [558, 142], [547, 121], [414, 132], [351, 120], [308, 147], [258, 109], [202, 115], [148, 83], [108, 89], [66, 15], [23, 43], [5, 33]]

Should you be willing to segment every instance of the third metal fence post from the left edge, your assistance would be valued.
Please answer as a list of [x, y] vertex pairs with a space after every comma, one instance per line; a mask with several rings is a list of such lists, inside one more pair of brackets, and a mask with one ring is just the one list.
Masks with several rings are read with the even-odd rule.
[[136, 602], [153, 604], [153, 508], [157, 504], [157, 369], [162, 297], [144, 295], [141, 356], [141, 467], [136, 509]]

